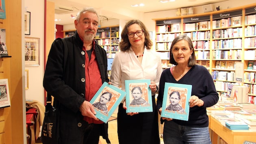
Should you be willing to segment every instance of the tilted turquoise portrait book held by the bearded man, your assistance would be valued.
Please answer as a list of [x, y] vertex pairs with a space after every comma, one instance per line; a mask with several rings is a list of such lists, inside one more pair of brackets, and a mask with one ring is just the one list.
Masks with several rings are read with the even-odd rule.
[[125, 95], [126, 93], [121, 89], [104, 82], [90, 101], [96, 111], [95, 116], [107, 123]]

